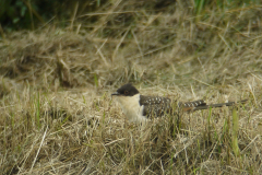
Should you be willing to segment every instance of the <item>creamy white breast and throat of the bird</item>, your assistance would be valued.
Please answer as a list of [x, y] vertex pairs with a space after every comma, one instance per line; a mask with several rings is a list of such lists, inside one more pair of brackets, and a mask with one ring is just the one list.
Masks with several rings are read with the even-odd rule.
[[123, 114], [130, 121], [141, 122], [145, 121], [146, 117], [143, 116], [144, 106], [140, 106], [140, 94], [134, 96], [116, 96], [121, 105]]

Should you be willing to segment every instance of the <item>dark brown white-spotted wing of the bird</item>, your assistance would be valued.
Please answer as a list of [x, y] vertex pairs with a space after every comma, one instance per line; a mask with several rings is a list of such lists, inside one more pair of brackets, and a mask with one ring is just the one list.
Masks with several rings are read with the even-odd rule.
[[141, 95], [140, 105], [144, 106], [143, 116], [147, 118], [171, 113], [171, 100], [168, 97]]

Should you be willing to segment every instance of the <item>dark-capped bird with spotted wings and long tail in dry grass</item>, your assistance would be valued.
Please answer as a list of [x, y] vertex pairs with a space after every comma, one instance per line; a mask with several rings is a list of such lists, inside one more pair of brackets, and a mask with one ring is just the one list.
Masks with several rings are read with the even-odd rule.
[[[139, 90], [131, 83], [122, 85], [111, 96], [116, 96], [129, 121], [134, 122], [143, 122], [152, 118], [162, 117], [165, 114], [172, 114], [176, 110], [175, 108], [182, 112], [195, 112], [210, 107], [233, 106], [236, 104], [235, 102], [228, 102], [207, 105], [203, 100], [182, 103], [169, 97], [145, 96], [141, 95]], [[242, 104], [245, 102], [247, 100], [239, 103]]]

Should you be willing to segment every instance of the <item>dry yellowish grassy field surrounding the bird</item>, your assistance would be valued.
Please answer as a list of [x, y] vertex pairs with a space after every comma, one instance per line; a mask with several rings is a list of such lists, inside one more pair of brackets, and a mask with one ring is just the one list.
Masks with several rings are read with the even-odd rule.
[[[66, 28], [0, 30], [0, 172], [261, 174], [262, 5], [216, 2], [110, 1], [75, 8]], [[110, 96], [128, 82], [184, 102], [249, 101], [141, 127]]]

